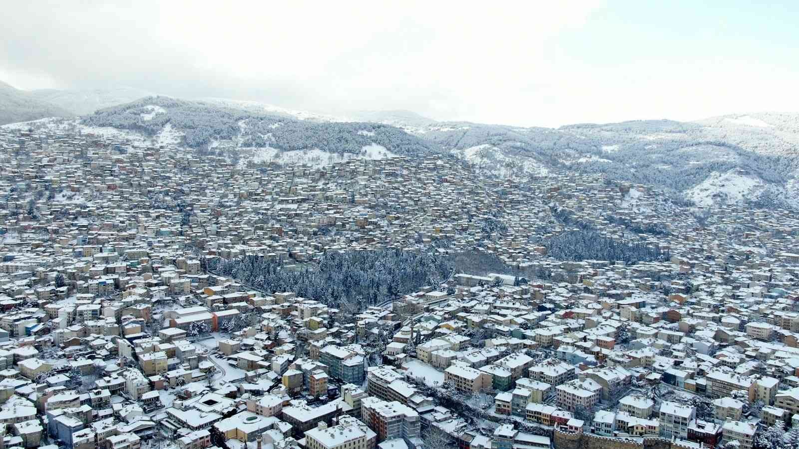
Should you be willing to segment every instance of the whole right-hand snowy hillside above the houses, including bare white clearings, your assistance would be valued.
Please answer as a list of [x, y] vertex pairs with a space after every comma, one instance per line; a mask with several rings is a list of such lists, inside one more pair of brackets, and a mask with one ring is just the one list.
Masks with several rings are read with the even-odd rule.
[[611, 179], [656, 185], [697, 205], [729, 201], [796, 208], [797, 122], [797, 114], [749, 114], [699, 122], [626, 121], [559, 129], [468, 122], [403, 129], [493, 176], [523, 178], [552, 170], [605, 173]]

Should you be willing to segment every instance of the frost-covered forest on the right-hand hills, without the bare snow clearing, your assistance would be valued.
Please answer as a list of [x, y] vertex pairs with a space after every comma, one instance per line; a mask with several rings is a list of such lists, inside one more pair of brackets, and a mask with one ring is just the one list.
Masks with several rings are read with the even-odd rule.
[[[795, 207], [785, 185], [799, 169], [791, 141], [773, 134], [735, 133], [679, 121], [626, 121], [567, 125], [559, 129], [519, 128], [467, 122], [438, 122], [423, 137], [446, 150], [490, 145], [493, 165], [524, 174], [527, 162], [548, 170], [604, 173], [610, 179], [655, 185], [682, 193], [712, 173], [744, 170], [766, 188], [752, 200], [758, 207]], [[759, 153], [761, 147], [781, 152]], [[784, 150], [784, 151], [782, 151]], [[503, 157], [497, 157], [501, 154]], [[492, 173], [498, 167], [483, 169]]]

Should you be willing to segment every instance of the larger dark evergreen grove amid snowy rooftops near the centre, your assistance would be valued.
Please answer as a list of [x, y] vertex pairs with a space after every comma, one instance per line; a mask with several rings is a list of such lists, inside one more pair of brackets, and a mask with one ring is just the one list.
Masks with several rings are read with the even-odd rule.
[[453, 268], [435, 252], [386, 249], [326, 252], [316, 270], [284, 269], [282, 260], [262, 256], [215, 260], [209, 269], [265, 292], [296, 292], [332, 307], [355, 302], [363, 309], [425, 285], [438, 286]]

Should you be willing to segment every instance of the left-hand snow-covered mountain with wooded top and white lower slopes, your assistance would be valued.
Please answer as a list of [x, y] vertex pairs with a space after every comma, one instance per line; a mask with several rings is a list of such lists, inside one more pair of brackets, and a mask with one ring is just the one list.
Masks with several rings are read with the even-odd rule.
[[186, 146], [242, 163], [324, 165], [350, 157], [417, 157], [438, 148], [391, 125], [323, 118], [255, 102], [145, 97], [78, 119], [7, 127], [94, 133], [131, 145]]

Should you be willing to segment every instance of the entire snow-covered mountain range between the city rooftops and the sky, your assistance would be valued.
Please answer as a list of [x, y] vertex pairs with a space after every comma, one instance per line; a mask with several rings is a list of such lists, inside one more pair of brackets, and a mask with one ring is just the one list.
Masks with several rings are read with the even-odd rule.
[[799, 114], [790, 113], [552, 129], [434, 121], [407, 111], [336, 117], [256, 101], [145, 97], [78, 119], [13, 126], [182, 145], [243, 164], [439, 153], [469, 161], [488, 176], [519, 181], [552, 172], [605, 173], [679, 193], [696, 205], [799, 208]]

